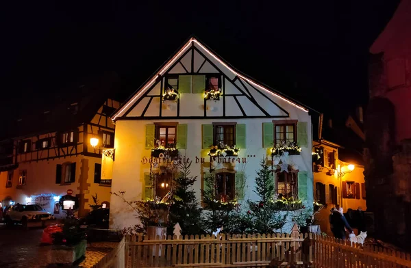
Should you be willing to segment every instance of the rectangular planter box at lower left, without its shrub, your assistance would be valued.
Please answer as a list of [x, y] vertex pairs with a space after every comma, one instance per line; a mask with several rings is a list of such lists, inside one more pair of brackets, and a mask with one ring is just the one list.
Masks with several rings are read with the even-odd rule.
[[86, 255], [86, 248], [86, 240], [74, 245], [51, 245], [47, 252], [47, 259], [51, 264], [72, 264]]

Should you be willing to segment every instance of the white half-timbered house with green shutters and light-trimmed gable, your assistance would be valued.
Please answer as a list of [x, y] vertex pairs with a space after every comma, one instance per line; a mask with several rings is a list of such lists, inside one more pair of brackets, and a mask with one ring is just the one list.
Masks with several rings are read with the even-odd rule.
[[[284, 163], [289, 165], [288, 169], [284, 166], [287, 171], [274, 165], [275, 189], [284, 196], [298, 196], [312, 207], [312, 120], [308, 108], [241, 74], [195, 38], [138, 89], [113, 120], [112, 191], [125, 191], [127, 200], [162, 198], [168, 192], [171, 175], [151, 164], [157, 161], [151, 159], [155, 140], [170, 151], [177, 148], [182, 161], [192, 161], [191, 174], [198, 176], [193, 187], [199, 200], [203, 176], [214, 164], [219, 181], [216, 193], [221, 200], [240, 202], [256, 198], [253, 189], [260, 161], [273, 144], [286, 140], [297, 142], [301, 152]], [[240, 148], [238, 156], [208, 156], [210, 146], [221, 142]], [[123, 200], [112, 196], [110, 226], [134, 224], [134, 213]]]

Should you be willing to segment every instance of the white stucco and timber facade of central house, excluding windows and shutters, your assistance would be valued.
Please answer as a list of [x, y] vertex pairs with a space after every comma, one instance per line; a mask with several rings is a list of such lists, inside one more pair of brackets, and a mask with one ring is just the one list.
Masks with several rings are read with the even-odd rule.
[[[195, 78], [191, 80], [190, 92], [179, 87], [181, 92], [177, 102], [162, 102], [166, 79], [176, 74], [179, 75], [179, 85], [185, 79], [183, 76], [201, 79], [201, 75], [208, 77], [211, 74], [218, 77], [220, 99], [204, 100], [204, 92], [195, 89]], [[312, 206], [312, 124], [308, 110], [240, 75], [193, 38], [113, 118], [116, 122], [116, 155], [112, 192], [125, 191], [125, 198], [129, 201], [145, 198], [145, 174], [151, 172], [147, 125], [186, 125], [184, 148], [179, 148], [179, 157], [181, 161], [192, 161], [191, 174], [198, 176], [193, 187], [197, 198], [201, 200], [203, 174], [210, 168], [210, 149], [204, 148], [203, 126], [227, 122], [243, 124], [245, 132], [242, 135], [245, 135], [245, 141], [238, 156], [234, 157], [235, 169], [232, 165], [223, 163], [216, 167], [216, 172], [244, 172], [244, 198], [240, 200], [240, 203], [244, 203], [247, 199], [256, 199], [253, 189], [260, 162], [267, 155], [271, 160], [269, 148], [275, 141], [272, 139], [270, 144], [264, 142], [267, 136], [264, 124], [275, 126], [276, 122], [284, 124], [290, 121], [295, 124], [295, 128], [304, 128], [299, 130], [298, 136], [303, 133], [306, 142], [301, 146], [299, 155], [289, 156], [288, 164], [297, 167], [300, 174], [305, 174], [304, 183], [307, 186], [301, 196], [304, 196], [303, 202], [307, 206]], [[299, 124], [300, 122], [303, 124]], [[297, 139], [298, 130], [294, 131]], [[273, 132], [275, 133], [275, 129]], [[178, 144], [177, 135], [177, 148]], [[222, 159], [226, 162], [233, 161], [233, 157], [223, 157], [221, 161]], [[134, 211], [121, 198], [112, 196], [110, 204], [110, 228], [121, 229], [138, 223]]]

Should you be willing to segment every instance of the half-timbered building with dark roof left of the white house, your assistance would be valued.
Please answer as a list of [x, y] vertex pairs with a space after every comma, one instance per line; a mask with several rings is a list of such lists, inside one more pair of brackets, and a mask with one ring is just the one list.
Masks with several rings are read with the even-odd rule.
[[86, 215], [96, 193], [110, 206], [111, 180], [101, 180], [101, 150], [88, 141], [100, 137], [104, 147], [114, 146], [110, 115], [120, 103], [108, 96], [117, 81], [107, 74], [68, 88], [71, 94], [12, 126], [12, 139], [0, 143], [2, 206], [37, 203], [62, 217], [55, 203], [68, 190], [79, 198], [79, 215]]

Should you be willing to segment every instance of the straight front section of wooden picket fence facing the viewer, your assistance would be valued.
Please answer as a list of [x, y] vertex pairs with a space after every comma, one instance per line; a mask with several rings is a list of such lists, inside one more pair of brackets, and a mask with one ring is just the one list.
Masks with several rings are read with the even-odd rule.
[[[125, 237], [126, 267], [267, 267], [310, 263], [308, 235]], [[277, 267], [273, 266], [273, 267]]]

